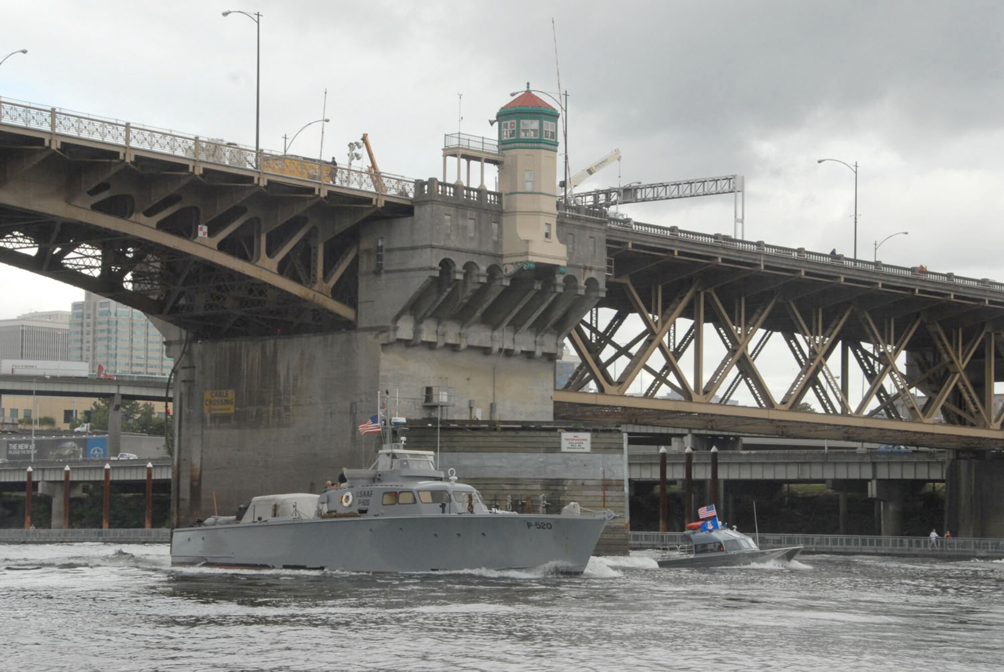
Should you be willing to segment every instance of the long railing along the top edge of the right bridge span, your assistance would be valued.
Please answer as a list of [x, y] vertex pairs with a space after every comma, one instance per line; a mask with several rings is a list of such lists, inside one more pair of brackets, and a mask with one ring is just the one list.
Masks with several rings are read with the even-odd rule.
[[995, 292], [1004, 292], [1004, 283], [990, 280], [989, 278], [966, 278], [964, 276], [957, 276], [954, 273], [938, 273], [935, 271], [929, 271], [924, 266], [891, 266], [889, 264], [883, 264], [881, 261], [869, 262], [863, 259], [848, 259], [843, 255], [811, 252], [805, 248], [786, 248], [780, 245], [768, 245], [763, 241], [742, 241], [724, 234], [705, 234], [697, 231], [685, 231], [679, 227], [661, 227], [655, 224], [635, 222], [631, 219], [608, 217], [607, 223], [611, 229], [637, 231], [639, 233], [659, 236], [661, 238], [676, 238], [704, 245], [716, 245], [759, 255], [789, 257], [792, 259], [801, 259], [818, 264], [826, 264], [828, 266], [839, 266], [861, 271], [882, 273], [890, 276], [929, 280], [939, 283], [951, 283], [953, 285], [965, 285], [968, 287], [993, 290]]

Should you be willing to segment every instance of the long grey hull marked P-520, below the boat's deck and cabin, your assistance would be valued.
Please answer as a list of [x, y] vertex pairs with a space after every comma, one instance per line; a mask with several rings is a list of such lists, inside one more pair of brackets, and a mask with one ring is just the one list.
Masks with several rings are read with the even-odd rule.
[[438, 572], [546, 566], [581, 573], [606, 520], [473, 514], [265, 521], [179, 528], [172, 565]]

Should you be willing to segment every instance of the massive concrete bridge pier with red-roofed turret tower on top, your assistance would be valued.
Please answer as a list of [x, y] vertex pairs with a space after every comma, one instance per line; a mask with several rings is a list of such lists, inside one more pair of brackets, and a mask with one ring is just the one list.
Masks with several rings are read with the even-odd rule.
[[[524, 92], [498, 118], [497, 144], [463, 136], [459, 150], [444, 148], [499, 164], [498, 192], [419, 180], [405, 216], [360, 211], [347, 234], [347, 326], [169, 336], [181, 360], [180, 524], [209, 515], [214, 493], [229, 512], [263, 491], [316, 491], [341, 466], [368, 464], [379, 438], [356, 427], [376, 412], [378, 392], [410, 425], [553, 419], [554, 360], [605, 292], [606, 221], [559, 220], [557, 111]], [[565, 477], [600, 472], [589, 469]]]

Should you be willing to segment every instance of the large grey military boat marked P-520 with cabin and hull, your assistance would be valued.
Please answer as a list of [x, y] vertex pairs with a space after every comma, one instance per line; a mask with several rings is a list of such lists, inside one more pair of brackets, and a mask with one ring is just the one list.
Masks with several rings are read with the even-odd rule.
[[471, 485], [444, 477], [435, 454], [385, 444], [368, 469], [322, 493], [252, 498], [171, 537], [172, 565], [437, 572], [545, 568], [580, 574], [611, 512], [501, 512]]

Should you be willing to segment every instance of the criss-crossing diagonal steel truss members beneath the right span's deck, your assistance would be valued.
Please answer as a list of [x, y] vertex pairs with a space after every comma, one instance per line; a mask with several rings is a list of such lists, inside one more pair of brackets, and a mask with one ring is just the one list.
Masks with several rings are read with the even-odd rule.
[[[784, 297], [780, 288], [751, 305], [739, 296], [730, 310], [719, 292], [699, 277], [676, 283], [669, 291], [669, 285], [653, 285], [648, 303], [631, 276], [611, 279], [608, 286], [620, 288], [622, 302], [605, 324], [594, 311], [569, 336], [581, 363], [564, 388], [568, 391], [594, 384], [600, 393], [626, 395], [638, 376], [647, 372], [653, 380], [642, 390], [645, 397], [655, 397], [665, 387], [687, 402], [726, 403], [745, 383], [764, 410], [795, 410], [811, 391], [822, 412], [831, 415], [929, 424], [944, 417], [980, 428], [1004, 425], [1004, 408], [994, 412], [992, 407], [994, 362], [1004, 359], [1004, 333], [991, 321], [954, 326], [951, 319], [958, 311], [886, 311], [887, 303], [858, 301], [857, 294], [841, 302], [830, 293], [821, 305], [814, 305], [811, 293]], [[778, 311], [781, 305], [784, 310]], [[850, 333], [863, 335], [862, 340], [847, 336], [851, 323]], [[787, 326], [778, 328], [782, 324]], [[641, 326], [631, 330], [630, 325]], [[678, 330], [688, 335], [680, 342], [675, 340]], [[767, 371], [757, 361], [778, 331], [797, 372], [775, 401]], [[704, 363], [695, 362], [694, 375], [688, 375], [682, 358], [703, 357], [710, 333], [724, 345], [724, 356], [708, 362], [714, 369], [706, 380]], [[900, 363], [908, 352], [914, 367], [909, 374]], [[848, 364], [856, 363], [866, 380], [867, 388], [856, 402], [831, 369], [833, 358], [841, 360], [844, 375]], [[776, 363], [770, 366], [776, 379]], [[979, 383], [971, 379], [976, 374], [982, 374]], [[715, 397], [719, 390], [724, 392]]]

